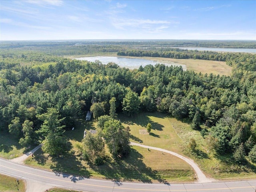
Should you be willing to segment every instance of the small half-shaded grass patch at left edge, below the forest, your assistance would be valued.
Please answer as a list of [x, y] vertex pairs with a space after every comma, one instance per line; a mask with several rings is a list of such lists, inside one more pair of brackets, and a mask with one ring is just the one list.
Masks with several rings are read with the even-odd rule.
[[20, 146], [12, 135], [5, 133], [0, 135], [0, 157], [13, 159], [22, 156], [25, 150], [26, 148]]

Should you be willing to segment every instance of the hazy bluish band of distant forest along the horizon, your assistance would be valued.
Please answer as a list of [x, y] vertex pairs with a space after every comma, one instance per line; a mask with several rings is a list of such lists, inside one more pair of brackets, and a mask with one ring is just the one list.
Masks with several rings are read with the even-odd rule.
[[1, 41], [1, 48], [22, 48], [27, 46], [56, 47], [74, 45], [126, 46], [129, 48], [153, 47], [211, 47], [211, 48], [256, 48], [250, 40], [64, 40], [64, 41]]

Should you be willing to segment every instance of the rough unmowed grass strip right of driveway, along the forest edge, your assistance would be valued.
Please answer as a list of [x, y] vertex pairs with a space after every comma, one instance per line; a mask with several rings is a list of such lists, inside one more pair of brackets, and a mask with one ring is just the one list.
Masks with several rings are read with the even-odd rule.
[[[230, 161], [230, 154], [220, 156], [214, 150], [209, 151], [208, 144], [200, 134], [200, 131], [192, 130], [189, 124], [182, 123], [175, 118], [169, 118], [169, 121], [176, 133], [184, 141], [183, 153], [193, 158], [206, 175], [219, 180], [256, 178], [256, 164], [251, 164], [250, 162], [246, 166], [234, 164]], [[204, 126], [202, 127], [204, 128]], [[186, 147], [191, 138], [194, 138], [197, 143], [194, 154]]]

